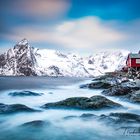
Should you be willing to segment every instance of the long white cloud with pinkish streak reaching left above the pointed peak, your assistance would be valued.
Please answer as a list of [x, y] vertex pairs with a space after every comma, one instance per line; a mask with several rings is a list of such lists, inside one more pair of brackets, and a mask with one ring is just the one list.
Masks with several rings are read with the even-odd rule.
[[14, 29], [9, 39], [20, 40], [24, 37], [31, 42], [48, 42], [72, 50], [102, 50], [110, 44], [117, 44], [127, 38], [126, 34], [117, 31], [96, 17], [85, 17], [64, 21], [59, 25], [46, 27], [19, 27]]

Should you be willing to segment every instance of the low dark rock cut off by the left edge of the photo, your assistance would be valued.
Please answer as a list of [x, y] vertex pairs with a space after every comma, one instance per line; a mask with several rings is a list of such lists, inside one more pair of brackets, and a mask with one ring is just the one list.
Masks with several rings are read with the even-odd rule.
[[35, 112], [36, 110], [22, 104], [6, 105], [0, 103], [0, 114], [9, 114], [17, 112]]

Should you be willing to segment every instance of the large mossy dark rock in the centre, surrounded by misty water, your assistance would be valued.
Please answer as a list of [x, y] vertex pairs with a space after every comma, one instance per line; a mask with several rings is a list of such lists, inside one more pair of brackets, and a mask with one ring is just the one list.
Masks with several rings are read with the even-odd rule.
[[115, 103], [103, 96], [87, 97], [73, 97], [55, 103], [47, 103], [42, 108], [72, 108], [72, 109], [103, 109], [121, 107], [120, 104]]

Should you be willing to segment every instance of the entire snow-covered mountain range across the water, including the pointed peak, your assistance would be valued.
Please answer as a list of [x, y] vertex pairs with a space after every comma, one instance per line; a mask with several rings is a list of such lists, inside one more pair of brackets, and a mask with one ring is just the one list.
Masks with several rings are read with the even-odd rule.
[[0, 55], [0, 75], [91, 77], [121, 69], [127, 51], [102, 52], [89, 57], [37, 49], [23, 39]]

